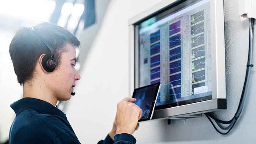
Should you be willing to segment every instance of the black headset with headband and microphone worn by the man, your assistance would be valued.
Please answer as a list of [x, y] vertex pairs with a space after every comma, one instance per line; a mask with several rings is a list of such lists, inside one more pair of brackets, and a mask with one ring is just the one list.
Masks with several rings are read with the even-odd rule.
[[[46, 70], [47, 72], [53, 72], [54, 69], [56, 68], [57, 66], [57, 60], [56, 58], [54, 57], [54, 53], [53, 53], [53, 48], [48, 44], [46, 43], [42, 38], [39, 38], [39, 36], [37, 36], [35, 33], [34, 33], [34, 28], [33, 27], [29, 27], [28, 28], [31, 33], [37, 38], [39, 39], [39, 41], [43, 42], [46, 47], [50, 50], [50, 55], [49, 54], [46, 54], [44, 55], [44, 57], [42, 58], [42, 66], [44, 68], [44, 70]], [[71, 92], [71, 95], [74, 96], [75, 95], [75, 92]]]

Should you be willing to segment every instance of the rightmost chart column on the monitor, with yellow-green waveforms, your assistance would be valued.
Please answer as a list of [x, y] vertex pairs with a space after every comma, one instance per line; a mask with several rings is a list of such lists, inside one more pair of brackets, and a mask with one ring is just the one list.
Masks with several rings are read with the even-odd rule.
[[206, 42], [204, 10], [191, 15], [191, 95], [206, 86]]

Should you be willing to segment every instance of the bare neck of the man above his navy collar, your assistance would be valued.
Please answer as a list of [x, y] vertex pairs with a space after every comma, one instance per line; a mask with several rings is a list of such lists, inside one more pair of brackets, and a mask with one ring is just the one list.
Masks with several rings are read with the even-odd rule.
[[37, 98], [39, 100], [49, 102], [53, 106], [55, 106], [58, 101], [57, 97], [55, 97], [46, 86], [34, 83], [23, 84], [23, 97]]

